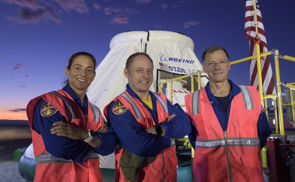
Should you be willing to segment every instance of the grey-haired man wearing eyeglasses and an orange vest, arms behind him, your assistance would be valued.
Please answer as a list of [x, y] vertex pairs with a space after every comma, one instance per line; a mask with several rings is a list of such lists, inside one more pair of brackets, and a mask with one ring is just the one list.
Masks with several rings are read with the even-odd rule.
[[264, 181], [260, 150], [271, 130], [256, 87], [227, 79], [220, 46], [207, 48], [202, 61], [209, 82], [185, 97], [196, 181]]

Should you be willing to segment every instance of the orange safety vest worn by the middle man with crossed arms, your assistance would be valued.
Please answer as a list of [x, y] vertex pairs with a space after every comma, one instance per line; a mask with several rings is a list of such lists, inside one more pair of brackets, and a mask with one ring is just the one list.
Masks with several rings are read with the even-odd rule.
[[[168, 105], [166, 101], [166, 96], [164, 94], [160, 94], [158, 92], [152, 92], [156, 100], [157, 106], [157, 113], [158, 113], [158, 122], [164, 122], [168, 119]], [[137, 123], [140, 125], [143, 131], [150, 127], [155, 126], [155, 121], [153, 120], [150, 112], [145, 108], [142, 103], [132, 97], [126, 90], [120, 94], [117, 98], [114, 98], [113, 101], [119, 100], [123, 105], [125, 105], [136, 118]], [[111, 102], [111, 103], [112, 103]], [[106, 105], [104, 108], [104, 116], [106, 118], [109, 115], [109, 107], [110, 104]], [[177, 172], [176, 172], [176, 165], [177, 158], [175, 154], [175, 142], [171, 142], [171, 146], [161, 152], [158, 153], [158, 157], [156, 160], [148, 165], [147, 167], [143, 168], [139, 171], [139, 179], [138, 181], [141, 182], [158, 182], [158, 181], [167, 181], [173, 182], [177, 180]], [[124, 178], [124, 175], [121, 171], [121, 167], [119, 164], [119, 160], [124, 152], [124, 148], [115, 151], [116, 157], [116, 174], [115, 174], [115, 181], [119, 182], [127, 182]]]

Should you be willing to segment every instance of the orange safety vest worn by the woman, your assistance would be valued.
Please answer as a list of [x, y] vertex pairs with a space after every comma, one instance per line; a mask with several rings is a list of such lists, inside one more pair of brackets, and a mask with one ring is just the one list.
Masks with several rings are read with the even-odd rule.
[[99, 108], [91, 102], [88, 102], [86, 125], [83, 112], [71, 96], [63, 90], [49, 92], [30, 100], [27, 105], [27, 117], [32, 130], [32, 141], [37, 166], [34, 181], [102, 182], [102, 175], [99, 170], [99, 155], [97, 153], [91, 152], [87, 154], [80, 164], [74, 160], [55, 157], [46, 151], [42, 136], [35, 131], [33, 125], [34, 112], [42, 98], [57, 108], [65, 116], [69, 124], [94, 131], [104, 125]]

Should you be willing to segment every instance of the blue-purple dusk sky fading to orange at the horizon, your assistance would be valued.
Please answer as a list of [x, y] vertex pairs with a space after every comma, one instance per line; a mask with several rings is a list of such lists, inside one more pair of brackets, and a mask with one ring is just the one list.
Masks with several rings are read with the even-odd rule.
[[[259, 5], [268, 50], [295, 57], [295, 1]], [[0, 119], [27, 120], [29, 100], [63, 87], [73, 53], [92, 53], [99, 63], [119, 33], [183, 32], [194, 41], [199, 60], [207, 47], [221, 45], [235, 61], [249, 56], [244, 24], [242, 0], [0, 0]], [[275, 79], [272, 55], [270, 60]], [[281, 80], [295, 82], [294, 68], [294, 62], [280, 59]], [[249, 61], [232, 65], [229, 79], [249, 85]]]

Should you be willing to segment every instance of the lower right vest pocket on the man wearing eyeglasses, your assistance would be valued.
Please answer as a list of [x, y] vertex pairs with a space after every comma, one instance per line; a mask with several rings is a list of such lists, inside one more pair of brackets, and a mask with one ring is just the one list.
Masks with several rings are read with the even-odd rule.
[[263, 181], [261, 155], [241, 156], [242, 166], [245, 171], [246, 181]]

